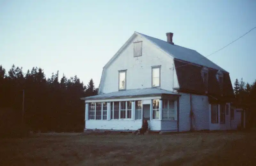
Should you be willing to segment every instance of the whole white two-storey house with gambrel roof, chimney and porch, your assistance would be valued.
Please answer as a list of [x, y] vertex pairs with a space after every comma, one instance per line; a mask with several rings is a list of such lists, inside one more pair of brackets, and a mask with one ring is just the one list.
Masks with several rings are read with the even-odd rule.
[[228, 130], [229, 73], [192, 49], [134, 32], [103, 67], [85, 101], [85, 130]]

